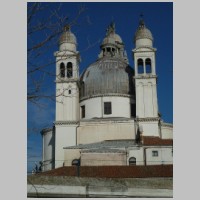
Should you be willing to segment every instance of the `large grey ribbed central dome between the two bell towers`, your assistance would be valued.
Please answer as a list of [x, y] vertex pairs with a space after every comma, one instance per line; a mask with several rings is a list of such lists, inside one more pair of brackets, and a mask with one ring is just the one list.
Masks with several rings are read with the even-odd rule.
[[94, 95], [133, 95], [133, 69], [122, 59], [103, 57], [81, 75], [81, 98]]

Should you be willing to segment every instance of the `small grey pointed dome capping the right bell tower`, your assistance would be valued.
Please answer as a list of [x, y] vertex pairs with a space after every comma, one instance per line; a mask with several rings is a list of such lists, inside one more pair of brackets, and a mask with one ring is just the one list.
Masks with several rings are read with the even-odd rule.
[[153, 36], [152, 36], [151, 31], [148, 28], [146, 28], [144, 21], [142, 20], [140, 21], [139, 27], [135, 33], [134, 41], [138, 39], [144, 39], [144, 38], [147, 38], [153, 41]]

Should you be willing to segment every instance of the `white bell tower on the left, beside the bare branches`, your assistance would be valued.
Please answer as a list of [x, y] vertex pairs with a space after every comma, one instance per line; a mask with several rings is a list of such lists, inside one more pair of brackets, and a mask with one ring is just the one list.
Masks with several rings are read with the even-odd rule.
[[55, 168], [63, 166], [63, 147], [76, 145], [79, 123], [79, 63], [77, 41], [70, 27], [64, 27], [56, 57]]

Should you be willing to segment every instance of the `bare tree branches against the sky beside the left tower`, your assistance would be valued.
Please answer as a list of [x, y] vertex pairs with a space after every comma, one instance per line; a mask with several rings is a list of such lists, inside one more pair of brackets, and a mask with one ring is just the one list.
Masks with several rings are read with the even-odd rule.
[[76, 17], [69, 21], [68, 16], [60, 12], [61, 8], [62, 3], [27, 4], [27, 100], [35, 104], [41, 98], [55, 100], [54, 91], [49, 94], [45, 88], [46, 79], [55, 76], [52, 67], [55, 59], [53, 56], [49, 59], [48, 53], [56, 47], [63, 27], [78, 25], [78, 19], [85, 11], [81, 6]]

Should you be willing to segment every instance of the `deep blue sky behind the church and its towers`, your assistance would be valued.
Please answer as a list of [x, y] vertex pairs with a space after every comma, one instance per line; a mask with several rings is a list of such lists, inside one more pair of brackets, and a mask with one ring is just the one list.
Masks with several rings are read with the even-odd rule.
[[[51, 3], [52, 9], [57, 6]], [[77, 15], [80, 6], [85, 6], [86, 11], [81, 14], [78, 24], [72, 26], [72, 32], [78, 41], [78, 50], [81, 54], [80, 74], [97, 59], [99, 45], [105, 36], [106, 28], [111, 21], [115, 22], [116, 33], [125, 44], [129, 63], [134, 67], [131, 51], [134, 48], [133, 37], [138, 27], [140, 14], [143, 13], [146, 26], [154, 37], [156, 52], [156, 72], [158, 75], [158, 105], [162, 119], [173, 122], [173, 3], [62, 3], [61, 15], [68, 15], [69, 21]], [[48, 13], [42, 12], [35, 20], [45, 18]], [[43, 37], [41, 34], [34, 39]], [[88, 47], [88, 42], [92, 45]], [[28, 40], [29, 45], [29, 40]], [[54, 60], [53, 52], [58, 50], [55, 44], [43, 54], [37, 63], [45, 64]], [[55, 73], [55, 65], [48, 67], [51, 74]], [[45, 94], [55, 94], [55, 77], [37, 73], [34, 78], [43, 80], [42, 91]], [[29, 80], [28, 80], [29, 83]], [[38, 107], [35, 104], [27, 105], [27, 164], [30, 170], [35, 161], [42, 159], [42, 137], [40, 130], [51, 127], [55, 119], [55, 102], [41, 99]]]

